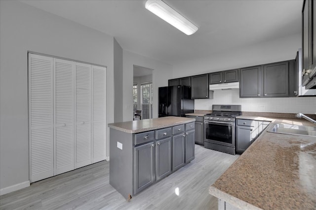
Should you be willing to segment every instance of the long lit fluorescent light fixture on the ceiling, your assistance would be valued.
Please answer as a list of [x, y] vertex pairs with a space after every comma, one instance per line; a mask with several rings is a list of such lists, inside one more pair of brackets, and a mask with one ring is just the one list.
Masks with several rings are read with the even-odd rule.
[[196, 25], [180, 15], [162, 0], [147, 0], [145, 8], [187, 35], [195, 33], [198, 29]]

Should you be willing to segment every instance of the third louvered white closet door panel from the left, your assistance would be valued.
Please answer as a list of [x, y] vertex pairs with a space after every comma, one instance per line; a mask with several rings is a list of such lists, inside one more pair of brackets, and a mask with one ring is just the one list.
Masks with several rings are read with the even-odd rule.
[[91, 65], [76, 62], [76, 166], [91, 161]]

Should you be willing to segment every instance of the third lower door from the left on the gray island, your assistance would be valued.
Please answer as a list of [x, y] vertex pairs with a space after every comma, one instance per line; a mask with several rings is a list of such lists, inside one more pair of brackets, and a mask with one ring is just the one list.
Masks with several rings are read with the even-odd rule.
[[172, 171], [176, 171], [184, 166], [184, 147], [184, 132], [172, 136]]

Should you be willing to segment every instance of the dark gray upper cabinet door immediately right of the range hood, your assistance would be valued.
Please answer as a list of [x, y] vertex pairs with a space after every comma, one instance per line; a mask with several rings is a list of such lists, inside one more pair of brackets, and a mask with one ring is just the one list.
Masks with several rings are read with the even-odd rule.
[[261, 66], [240, 69], [240, 98], [261, 97]]

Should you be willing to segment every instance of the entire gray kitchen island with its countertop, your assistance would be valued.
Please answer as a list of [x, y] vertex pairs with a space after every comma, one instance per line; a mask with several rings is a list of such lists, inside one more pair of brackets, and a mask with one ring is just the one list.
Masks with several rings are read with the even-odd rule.
[[110, 123], [110, 184], [125, 198], [195, 158], [195, 119]]

